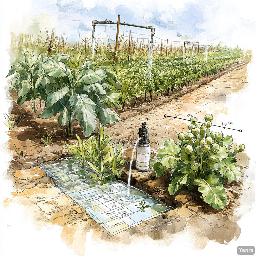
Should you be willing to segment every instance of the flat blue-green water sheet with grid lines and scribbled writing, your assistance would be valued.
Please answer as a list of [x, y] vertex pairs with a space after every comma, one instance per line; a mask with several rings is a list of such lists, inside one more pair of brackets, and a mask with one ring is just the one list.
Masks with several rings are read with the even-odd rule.
[[136, 199], [132, 202], [123, 201], [121, 198], [127, 196], [126, 183], [111, 181], [108, 177], [101, 186], [89, 175], [95, 173], [91, 167], [85, 165], [82, 170], [77, 159], [72, 157], [41, 164], [40, 168], [60, 190], [81, 204], [92, 219], [112, 235], [173, 209], [133, 187], [130, 188], [130, 195]]

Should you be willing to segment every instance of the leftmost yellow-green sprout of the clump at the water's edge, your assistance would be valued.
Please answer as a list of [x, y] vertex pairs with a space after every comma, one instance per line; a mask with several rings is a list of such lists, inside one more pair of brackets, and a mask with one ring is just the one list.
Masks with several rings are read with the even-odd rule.
[[[89, 159], [89, 150], [91, 148], [91, 142], [92, 138], [89, 138], [86, 141], [83, 141], [78, 135], [76, 135], [77, 141], [78, 141], [78, 147], [73, 144], [65, 145], [65, 148], [69, 148], [70, 152], [73, 153], [77, 158], [80, 159], [79, 164], [84, 168], [84, 163], [86, 159]], [[66, 155], [69, 154], [69, 152], [66, 152]]]

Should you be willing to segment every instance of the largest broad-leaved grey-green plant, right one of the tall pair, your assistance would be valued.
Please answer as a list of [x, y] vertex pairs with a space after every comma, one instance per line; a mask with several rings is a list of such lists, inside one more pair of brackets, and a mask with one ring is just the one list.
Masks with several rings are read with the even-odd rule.
[[45, 101], [45, 109], [40, 118], [50, 118], [60, 113], [61, 126], [68, 123], [68, 134], [73, 133], [76, 119], [81, 125], [85, 137], [89, 137], [96, 128], [96, 118], [102, 124], [118, 122], [121, 119], [109, 107], [120, 107], [118, 99], [121, 84], [108, 70], [108, 67], [96, 68], [97, 63], [81, 60], [82, 52], [68, 55], [53, 55], [45, 58], [42, 69], [51, 78]]

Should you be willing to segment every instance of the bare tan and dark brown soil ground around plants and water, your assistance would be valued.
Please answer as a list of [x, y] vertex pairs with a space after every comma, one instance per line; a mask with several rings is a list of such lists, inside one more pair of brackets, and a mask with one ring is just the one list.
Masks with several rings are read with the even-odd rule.
[[[135, 138], [137, 138], [136, 132], [138, 127], [141, 122], [145, 121], [150, 128], [151, 157], [153, 158], [164, 140], [176, 140], [177, 134], [180, 131], [186, 130], [188, 125], [187, 122], [177, 119], [163, 118], [163, 115], [169, 113], [172, 115], [171, 113], [175, 113], [176, 116], [185, 117], [187, 113], [191, 113], [202, 120], [206, 114], [204, 110], [204, 106], [206, 105], [208, 109], [211, 109], [213, 116], [218, 116], [218, 113], [227, 111], [223, 105], [228, 95], [237, 93], [246, 87], [246, 63], [236, 64], [236, 66], [212, 76], [211, 79], [212, 81], [208, 83], [205, 81], [205, 84], [202, 81], [202, 85], [200, 85], [201, 81], [197, 81], [193, 85], [184, 85], [180, 89], [180, 94], [176, 94], [175, 98], [174, 95], [170, 95], [170, 99], [159, 95], [158, 99], [153, 99], [152, 102], [138, 102], [141, 104], [142, 109], [140, 107], [136, 108], [135, 105], [132, 109], [125, 109], [123, 113], [120, 111], [119, 115], [122, 122], [114, 125], [111, 124], [109, 127], [106, 126], [104, 131], [106, 134], [114, 135], [116, 143], [123, 144], [123, 157], [129, 160]], [[181, 92], [181, 90], [183, 91]], [[13, 91], [11, 96], [14, 101], [17, 99]], [[193, 102], [193, 105], [191, 105], [191, 102]], [[39, 220], [41, 225], [44, 225], [44, 222], [47, 221], [63, 226], [62, 237], [74, 251], [77, 250], [75, 244], [83, 243], [85, 239], [84, 232], [88, 232], [91, 228], [93, 229], [93, 237], [95, 239], [97, 237], [101, 237], [101, 239], [111, 237], [106, 230], [102, 229], [99, 224], [91, 219], [83, 207], [74, 204], [69, 196], [61, 192], [59, 188], [56, 188], [53, 180], [49, 176], [38, 167], [34, 167], [49, 160], [66, 157], [63, 146], [65, 143], [76, 143], [76, 137], [65, 137], [64, 130], [60, 130], [60, 126], [54, 117], [46, 120], [37, 117], [33, 119], [29, 103], [23, 103], [21, 107], [15, 102], [13, 103], [12, 115], [18, 115], [19, 109], [26, 111], [26, 114], [20, 123], [10, 131], [11, 144], [15, 143], [16, 146], [19, 146], [24, 151], [26, 149], [27, 156], [25, 159], [17, 159], [15, 157], [16, 153], [13, 150], [15, 160], [12, 161], [9, 174], [10, 176], [14, 176], [17, 192], [13, 194], [11, 200], [27, 205], [30, 211], [36, 212], [33, 214], [33, 218]], [[40, 101], [36, 100], [36, 104], [40, 104]], [[133, 104], [134, 102], [131, 102], [131, 107]], [[38, 114], [43, 109], [44, 102], [42, 101], [41, 106], [37, 110]], [[40, 140], [40, 131], [45, 128], [48, 128], [49, 131], [54, 130], [52, 143], [49, 147], [43, 146]], [[83, 137], [82, 129], [76, 122], [74, 123], [74, 133]], [[241, 153], [238, 157], [237, 164], [240, 165], [242, 173], [246, 170], [248, 162], [249, 159], [246, 154]], [[128, 166], [125, 166], [124, 170], [121, 179], [127, 181]], [[160, 190], [166, 190], [169, 179], [168, 173], [166, 175], [160, 178], [154, 178], [155, 174], [152, 171], [149, 174], [143, 175], [135, 172], [132, 174], [132, 185], [144, 186], [144, 190], [149, 194], [150, 190], [152, 191], [152, 188], [156, 187]], [[144, 184], [145, 182], [147, 185]], [[237, 219], [229, 218], [228, 216], [230, 214], [232, 215], [236, 207], [239, 206], [239, 198], [245, 195], [248, 196], [245, 191], [249, 184], [243, 184], [243, 178], [235, 184], [227, 183], [225, 185], [225, 188], [229, 191], [229, 201], [223, 210], [214, 211], [211, 207], [206, 207], [202, 203], [202, 200], [200, 201], [200, 198], [198, 199], [196, 193], [188, 194], [186, 190], [181, 190], [176, 196], [176, 200], [180, 202], [177, 209], [112, 236], [111, 240], [118, 241], [119, 243], [121, 241], [130, 243], [131, 236], [133, 238], [138, 237], [138, 239], [140, 239], [139, 236], [162, 239], [165, 237], [165, 232], [175, 234], [179, 230], [186, 230], [186, 227], [192, 227], [195, 231], [194, 235], [197, 237], [200, 236], [202, 230], [199, 232], [199, 230], [196, 230], [196, 226], [200, 225], [204, 227], [204, 234], [207, 234], [207, 239], [201, 245], [202, 247], [209, 240], [217, 240], [219, 243], [224, 243], [224, 240], [228, 242], [240, 234], [240, 229], [236, 224], [240, 215], [236, 217]], [[215, 225], [218, 227], [220, 223], [223, 223], [222, 228], [228, 228], [229, 230], [225, 238], [221, 235], [223, 234], [222, 229], [220, 228], [218, 232], [213, 232], [214, 227], [210, 226], [209, 222], [214, 227]], [[171, 226], [170, 223], [172, 223]], [[156, 230], [156, 226], [161, 228]], [[77, 238], [74, 243], [73, 238], [71, 241], [68, 237], [70, 234], [75, 233]], [[168, 242], [171, 241], [172, 237], [169, 238]]]

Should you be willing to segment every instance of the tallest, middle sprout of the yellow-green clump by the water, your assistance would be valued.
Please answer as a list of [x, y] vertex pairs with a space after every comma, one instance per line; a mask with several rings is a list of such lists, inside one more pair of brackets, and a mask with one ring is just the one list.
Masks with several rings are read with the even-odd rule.
[[102, 124], [99, 125], [99, 133], [97, 138], [93, 135], [91, 140], [91, 150], [89, 152], [90, 160], [87, 163], [92, 167], [94, 171], [98, 173], [98, 176], [90, 173], [90, 176], [103, 184], [107, 177], [107, 163], [111, 160], [109, 143], [113, 139], [113, 136], [105, 136]]

